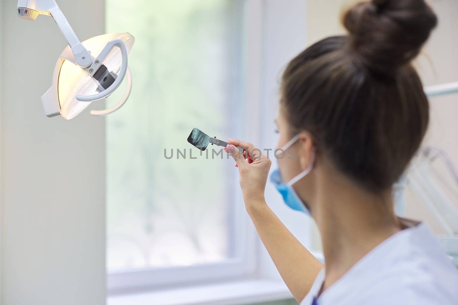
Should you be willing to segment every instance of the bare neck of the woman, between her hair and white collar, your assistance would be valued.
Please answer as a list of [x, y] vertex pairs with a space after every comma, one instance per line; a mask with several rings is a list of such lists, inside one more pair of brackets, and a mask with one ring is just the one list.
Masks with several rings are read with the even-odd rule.
[[400, 226], [391, 190], [370, 193], [335, 172], [317, 176], [312, 214], [322, 235], [327, 289]]

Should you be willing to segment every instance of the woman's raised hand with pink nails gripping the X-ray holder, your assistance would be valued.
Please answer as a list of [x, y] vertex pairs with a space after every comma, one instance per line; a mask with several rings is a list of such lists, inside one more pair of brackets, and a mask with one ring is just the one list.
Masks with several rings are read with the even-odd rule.
[[[232, 155], [239, 168], [245, 207], [248, 209], [251, 204], [265, 203], [264, 190], [272, 161], [251, 143], [237, 139], [229, 139], [228, 142], [224, 151]], [[244, 152], [236, 146], [243, 148]]]

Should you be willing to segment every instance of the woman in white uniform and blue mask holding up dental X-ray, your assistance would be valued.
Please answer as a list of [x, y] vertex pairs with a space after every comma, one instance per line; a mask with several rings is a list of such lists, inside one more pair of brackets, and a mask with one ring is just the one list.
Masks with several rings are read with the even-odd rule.
[[295, 157], [277, 158], [271, 180], [315, 220], [325, 266], [267, 206], [271, 160], [228, 141], [245, 208], [301, 305], [458, 304], [457, 269], [427, 225], [394, 214], [392, 198], [428, 126], [411, 61], [436, 23], [424, 0], [362, 2], [343, 16], [348, 35], [313, 44], [284, 71], [278, 148]]

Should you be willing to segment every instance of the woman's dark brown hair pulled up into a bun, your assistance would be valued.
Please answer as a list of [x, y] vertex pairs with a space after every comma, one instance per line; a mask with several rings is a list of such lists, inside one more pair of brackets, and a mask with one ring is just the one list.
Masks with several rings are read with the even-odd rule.
[[424, 0], [373, 0], [343, 15], [349, 35], [325, 38], [288, 64], [281, 104], [295, 131], [373, 192], [387, 190], [418, 150], [428, 100], [410, 64], [437, 18]]

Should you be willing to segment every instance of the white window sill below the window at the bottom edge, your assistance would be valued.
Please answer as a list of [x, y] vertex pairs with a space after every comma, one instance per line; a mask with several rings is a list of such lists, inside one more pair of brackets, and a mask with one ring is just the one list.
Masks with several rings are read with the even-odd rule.
[[107, 305], [236, 305], [292, 299], [283, 281], [247, 279], [220, 284], [113, 295]]

